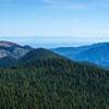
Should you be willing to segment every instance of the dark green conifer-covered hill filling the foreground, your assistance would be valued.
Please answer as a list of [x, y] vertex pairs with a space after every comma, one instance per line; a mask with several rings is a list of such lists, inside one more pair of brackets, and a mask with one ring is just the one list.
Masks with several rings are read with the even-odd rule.
[[109, 71], [31, 50], [0, 69], [0, 109], [109, 109]]

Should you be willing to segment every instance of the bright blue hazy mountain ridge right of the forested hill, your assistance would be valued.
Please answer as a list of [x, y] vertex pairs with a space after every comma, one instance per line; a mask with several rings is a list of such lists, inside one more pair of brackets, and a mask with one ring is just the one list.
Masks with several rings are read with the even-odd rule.
[[84, 61], [109, 69], [109, 43], [82, 47], [62, 47], [52, 49], [52, 51], [73, 61]]

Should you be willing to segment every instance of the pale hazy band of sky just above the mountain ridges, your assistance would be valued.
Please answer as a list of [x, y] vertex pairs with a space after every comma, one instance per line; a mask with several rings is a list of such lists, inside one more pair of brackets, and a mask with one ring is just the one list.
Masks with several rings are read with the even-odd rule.
[[35, 48], [78, 47], [99, 43], [109, 43], [101, 37], [85, 38], [74, 36], [0, 36], [0, 41], [12, 41], [19, 45], [28, 45]]

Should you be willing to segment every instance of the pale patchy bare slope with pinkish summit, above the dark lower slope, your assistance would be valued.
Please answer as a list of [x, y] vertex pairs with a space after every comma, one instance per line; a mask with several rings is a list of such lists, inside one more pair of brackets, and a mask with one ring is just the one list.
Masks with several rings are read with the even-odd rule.
[[8, 56], [8, 52], [9, 52], [11, 57], [15, 59], [20, 59], [21, 57], [23, 57], [25, 53], [27, 53], [32, 49], [33, 48], [28, 46], [23, 47], [23, 46], [20, 46], [11, 41], [0, 41], [0, 56], [2, 53]]

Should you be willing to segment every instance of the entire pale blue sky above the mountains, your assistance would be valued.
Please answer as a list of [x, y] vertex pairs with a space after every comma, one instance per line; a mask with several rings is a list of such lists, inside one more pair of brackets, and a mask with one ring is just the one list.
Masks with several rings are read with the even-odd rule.
[[0, 0], [0, 40], [47, 47], [109, 41], [109, 0]]

